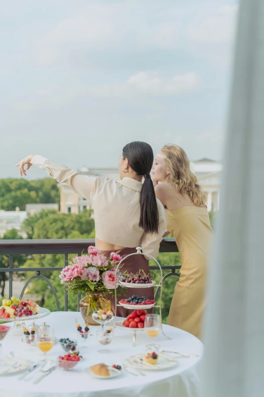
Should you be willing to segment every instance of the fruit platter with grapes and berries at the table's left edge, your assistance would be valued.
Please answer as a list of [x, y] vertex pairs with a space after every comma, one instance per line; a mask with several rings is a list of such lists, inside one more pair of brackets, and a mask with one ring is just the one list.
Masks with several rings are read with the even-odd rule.
[[16, 297], [3, 299], [2, 306], [0, 306], [0, 320], [2, 321], [24, 321], [30, 319], [32, 316], [34, 319], [37, 319], [49, 314], [49, 309], [40, 307], [31, 299], [24, 300]]

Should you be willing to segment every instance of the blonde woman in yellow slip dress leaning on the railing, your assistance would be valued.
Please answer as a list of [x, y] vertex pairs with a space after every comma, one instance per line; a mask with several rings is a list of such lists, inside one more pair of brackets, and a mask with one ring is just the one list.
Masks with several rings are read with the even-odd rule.
[[205, 196], [179, 146], [163, 146], [154, 160], [152, 178], [156, 197], [166, 210], [165, 235], [173, 235], [182, 262], [167, 323], [200, 338], [212, 236]]

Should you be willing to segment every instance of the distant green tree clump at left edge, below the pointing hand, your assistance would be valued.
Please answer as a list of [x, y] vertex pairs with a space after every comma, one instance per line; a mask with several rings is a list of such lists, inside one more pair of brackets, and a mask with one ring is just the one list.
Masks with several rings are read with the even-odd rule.
[[25, 210], [30, 203], [59, 203], [60, 192], [52, 178], [27, 181], [24, 178], [0, 179], [0, 209]]

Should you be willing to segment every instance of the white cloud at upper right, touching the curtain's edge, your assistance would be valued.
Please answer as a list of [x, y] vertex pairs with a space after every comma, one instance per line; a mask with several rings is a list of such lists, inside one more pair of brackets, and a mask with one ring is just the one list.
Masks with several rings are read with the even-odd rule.
[[238, 5], [216, 9], [204, 20], [187, 30], [191, 42], [198, 44], [229, 44], [233, 42]]

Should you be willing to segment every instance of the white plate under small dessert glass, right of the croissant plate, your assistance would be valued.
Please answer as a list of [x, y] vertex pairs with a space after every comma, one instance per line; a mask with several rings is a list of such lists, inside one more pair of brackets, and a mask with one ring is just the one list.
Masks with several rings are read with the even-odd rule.
[[178, 360], [175, 357], [164, 353], [159, 353], [158, 362], [153, 365], [148, 364], [143, 360], [143, 354], [131, 355], [124, 361], [124, 365], [127, 365], [128, 367], [150, 371], [165, 370], [167, 368], [174, 367], [176, 364], [178, 364]]

